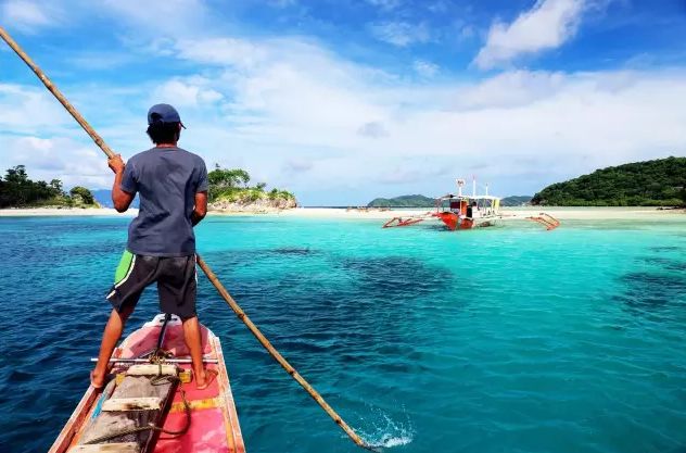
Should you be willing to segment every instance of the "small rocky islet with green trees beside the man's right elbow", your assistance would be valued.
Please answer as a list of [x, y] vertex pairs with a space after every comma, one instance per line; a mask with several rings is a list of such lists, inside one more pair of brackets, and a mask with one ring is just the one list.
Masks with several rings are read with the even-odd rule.
[[266, 183], [249, 186], [251, 177], [244, 169], [226, 169], [216, 164], [207, 177], [212, 211], [269, 212], [297, 206], [295, 196], [287, 190], [265, 190]]

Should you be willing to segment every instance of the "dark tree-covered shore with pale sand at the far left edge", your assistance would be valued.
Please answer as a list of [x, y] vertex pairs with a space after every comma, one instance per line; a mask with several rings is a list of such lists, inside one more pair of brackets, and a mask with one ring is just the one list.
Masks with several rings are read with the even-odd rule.
[[17, 165], [0, 177], [0, 209], [7, 207], [100, 207], [100, 204], [85, 187], [73, 187], [67, 193], [60, 179], [34, 181], [26, 167]]

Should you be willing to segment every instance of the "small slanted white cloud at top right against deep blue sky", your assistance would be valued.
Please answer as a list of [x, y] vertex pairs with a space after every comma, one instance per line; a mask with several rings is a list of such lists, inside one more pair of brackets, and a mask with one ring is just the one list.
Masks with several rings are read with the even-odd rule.
[[576, 34], [586, 3], [587, 0], [537, 0], [511, 24], [495, 22], [474, 63], [487, 70], [562, 46]]

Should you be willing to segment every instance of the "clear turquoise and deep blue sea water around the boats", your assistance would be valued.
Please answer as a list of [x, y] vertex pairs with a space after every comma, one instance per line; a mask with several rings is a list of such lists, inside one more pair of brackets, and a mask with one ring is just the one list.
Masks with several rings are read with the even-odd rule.
[[[88, 383], [126, 218], [0, 218], [0, 451], [45, 451]], [[686, 223], [448, 232], [209, 218], [199, 249], [386, 451], [686, 451]], [[156, 312], [148, 292], [129, 323]], [[201, 278], [247, 451], [357, 451]]]

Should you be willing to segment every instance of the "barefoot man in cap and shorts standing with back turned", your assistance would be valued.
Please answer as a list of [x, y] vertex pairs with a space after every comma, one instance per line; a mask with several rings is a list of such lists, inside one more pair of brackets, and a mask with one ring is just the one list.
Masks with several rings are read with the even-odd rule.
[[207, 388], [216, 377], [216, 372], [203, 365], [195, 313], [193, 227], [207, 213], [207, 168], [200, 156], [177, 147], [185, 127], [172, 105], [153, 105], [148, 112], [148, 135], [155, 147], [136, 154], [126, 165], [118, 154], [107, 161], [115, 175], [114, 207], [125, 212], [139, 193], [140, 211], [129, 226], [127, 250], [107, 294], [113, 310], [90, 375], [96, 388], [104, 385], [107, 362], [124, 325], [143, 289], [153, 282], [157, 284], [161, 311], [178, 315], [183, 323], [198, 389]]

